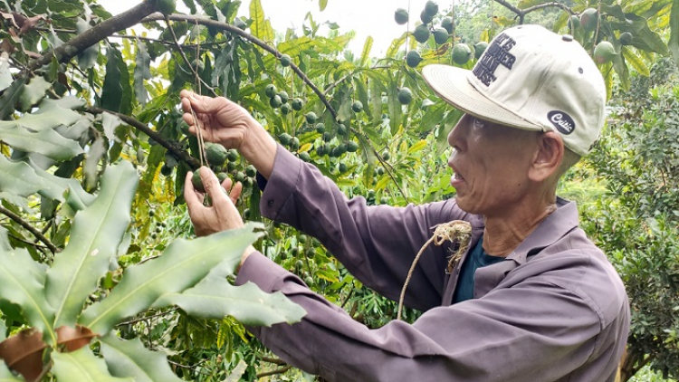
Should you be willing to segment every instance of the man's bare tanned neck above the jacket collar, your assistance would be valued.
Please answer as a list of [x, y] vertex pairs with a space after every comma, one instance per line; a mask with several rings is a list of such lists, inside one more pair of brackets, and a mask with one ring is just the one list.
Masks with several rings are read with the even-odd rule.
[[483, 251], [493, 256], [507, 256], [556, 210], [556, 204], [545, 202], [521, 206], [503, 216], [485, 217]]

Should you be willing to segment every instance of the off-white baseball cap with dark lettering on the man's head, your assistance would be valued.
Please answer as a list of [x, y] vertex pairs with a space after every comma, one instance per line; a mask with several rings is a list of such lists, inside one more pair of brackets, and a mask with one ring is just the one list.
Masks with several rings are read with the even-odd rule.
[[581, 156], [604, 126], [606, 85], [597, 65], [573, 37], [540, 25], [497, 35], [472, 71], [431, 64], [422, 75], [457, 109], [512, 128], [556, 131]]

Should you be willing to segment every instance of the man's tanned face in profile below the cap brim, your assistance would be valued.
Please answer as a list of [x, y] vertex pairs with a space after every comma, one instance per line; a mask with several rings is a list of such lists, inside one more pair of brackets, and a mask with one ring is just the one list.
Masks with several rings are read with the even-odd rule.
[[528, 172], [539, 134], [464, 114], [448, 135], [450, 184], [460, 208], [488, 217], [519, 206], [530, 190]]

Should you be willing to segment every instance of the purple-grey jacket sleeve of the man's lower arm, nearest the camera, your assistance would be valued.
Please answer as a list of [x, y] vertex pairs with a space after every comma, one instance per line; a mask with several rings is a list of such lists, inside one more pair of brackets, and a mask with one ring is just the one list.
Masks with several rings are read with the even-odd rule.
[[261, 253], [245, 261], [236, 279], [244, 282], [282, 291], [307, 311], [299, 323], [252, 330], [289, 364], [329, 381], [561, 380], [588, 362], [601, 331], [587, 301], [540, 277], [379, 329], [352, 320]]

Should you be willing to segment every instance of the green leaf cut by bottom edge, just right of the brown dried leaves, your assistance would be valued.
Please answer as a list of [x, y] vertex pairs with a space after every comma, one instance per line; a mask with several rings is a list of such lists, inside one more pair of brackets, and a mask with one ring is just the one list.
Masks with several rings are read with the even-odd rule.
[[135, 382], [180, 382], [167, 364], [165, 354], [144, 348], [139, 339], [113, 335], [99, 339], [101, 355], [114, 377], [133, 377]]

